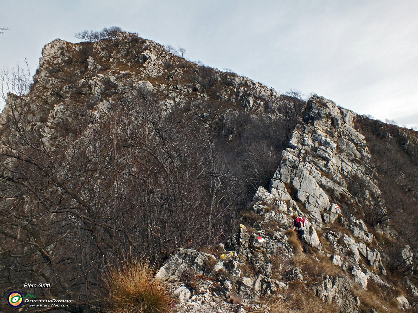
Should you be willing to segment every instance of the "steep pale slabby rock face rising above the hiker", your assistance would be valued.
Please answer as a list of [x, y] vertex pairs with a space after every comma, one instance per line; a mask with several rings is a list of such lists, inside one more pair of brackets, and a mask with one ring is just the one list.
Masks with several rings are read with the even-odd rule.
[[[353, 112], [334, 102], [313, 96], [308, 101], [306, 123], [296, 126], [273, 178], [282, 183], [276, 183], [280, 189], [284, 184], [293, 190], [319, 229], [323, 223], [333, 223], [341, 208], [350, 212], [363, 203], [382, 205], [377, 182], [372, 179], [367, 143], [355, 130], [353, 117]], [[338, 200], [341, 208], [330, 199]], [[350, 218], [353, 235], [370, 242], [364, 222]]]

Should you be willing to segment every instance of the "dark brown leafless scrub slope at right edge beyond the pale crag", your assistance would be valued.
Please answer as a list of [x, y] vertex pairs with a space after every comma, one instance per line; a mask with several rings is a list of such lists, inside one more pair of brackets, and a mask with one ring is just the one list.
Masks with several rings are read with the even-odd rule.
[[[397, 126], [378, 120], [360, 118], [358, 123], [372, 156], [372, 163], [368, 164], [367, 168], [368, 174], [377, 180], [381, 191], [381, 194], [371, 196], [375, 196], [377, 204], [384, 201], [382, 202], [384, 206], [363, 205], [364, 219], [372, 225], [381, 226], [390, 220], [399, 236], [396, 237], [396, 242], [388, 242], [389, 252], [391, 254], [396, 252], [399, 256], [400, 248], [408, 244], [414, 254], [413, 269], [400, 267], [404, 264], [402, 260], [392, 266], [400, 270], [403, 275], [416, 275], [418, 223], [412, 217], [416, 214], [415, 204], [418, 201], [415, 192], [418, 190], [418, 149], [413, 144], [417, 139], [414, 134], [408, 134], [408, 130], [401, 130]], [[407, 145], [406, 142], [410, 144]], [[397, 259], [396, 255], [393, 257], [393, 260]]]

